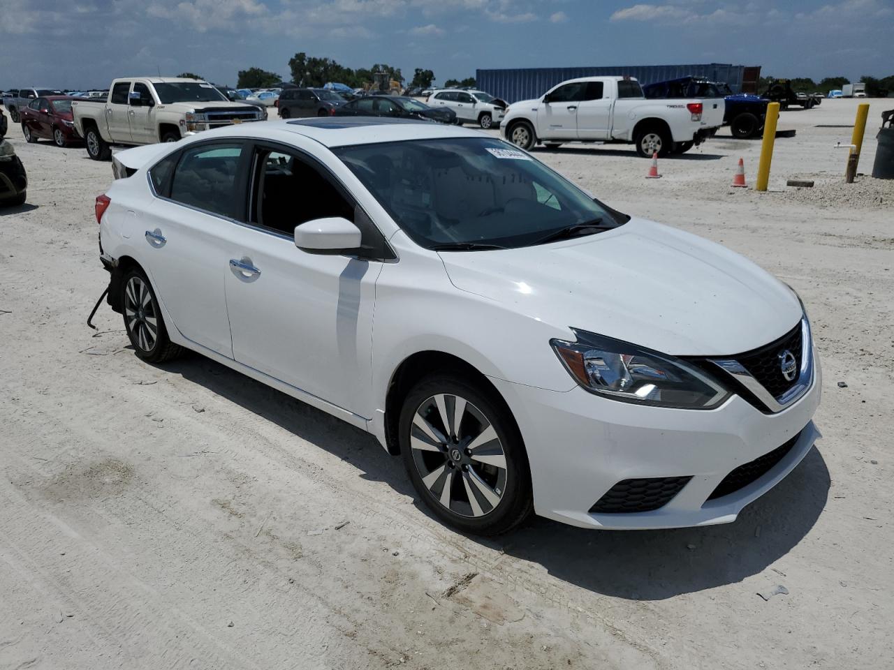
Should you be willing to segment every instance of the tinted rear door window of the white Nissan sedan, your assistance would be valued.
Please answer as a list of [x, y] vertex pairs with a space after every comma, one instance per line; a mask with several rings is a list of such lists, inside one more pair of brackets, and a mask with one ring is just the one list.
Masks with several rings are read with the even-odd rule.
[[173, 173], [171, 199], [212, 214], [235, 218], [239, 202], [236, 173], [241, 155], [242, 146], [238, 143], [186, 149]]

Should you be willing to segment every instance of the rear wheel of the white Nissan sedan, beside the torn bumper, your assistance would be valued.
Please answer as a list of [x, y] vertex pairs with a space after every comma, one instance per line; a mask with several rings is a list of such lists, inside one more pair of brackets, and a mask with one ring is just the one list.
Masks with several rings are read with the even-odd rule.
[[137, 357], [164, 363], [180, 355], [180, 346], [168, 338], [156, 292], [142, 270], [134, 268], [124, 275], [122, 294], [124, 330]]

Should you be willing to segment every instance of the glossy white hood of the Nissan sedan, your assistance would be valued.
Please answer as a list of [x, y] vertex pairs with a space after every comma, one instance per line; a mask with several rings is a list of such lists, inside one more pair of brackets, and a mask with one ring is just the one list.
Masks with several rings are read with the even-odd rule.
[[440, 255], [457, 289], [676, 356], [762, 347], [802, 315], [792, 291], [743, 256], [644, 220], [537, 247]]

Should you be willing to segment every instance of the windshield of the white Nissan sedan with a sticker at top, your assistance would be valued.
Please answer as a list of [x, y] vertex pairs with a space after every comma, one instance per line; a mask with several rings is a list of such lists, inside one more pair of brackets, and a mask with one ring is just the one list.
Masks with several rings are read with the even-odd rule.
[[500, 139], [421, 139], [333, 151], [426, 248], [528, 247], [576, 226], [614, 228], [628, 220]]

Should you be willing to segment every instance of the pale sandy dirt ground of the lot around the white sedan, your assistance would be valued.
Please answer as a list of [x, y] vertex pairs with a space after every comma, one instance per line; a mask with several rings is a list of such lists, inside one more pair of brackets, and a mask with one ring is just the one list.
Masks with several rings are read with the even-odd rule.
[[[869, 102], [867, 173], [894, 106]], [[13, 127], [30, 189], [0, 210], [0, 668], [890, 668], [894, 183], [841, 183], [855, 109], [782, 113], [797, 137], [765, 194], [730, 188], [760, 143], [726, 131], [661, 180], [628, 147], [538, 152], [801, 293], [823, 439], [736, 523], [497, 540], [427, 515], [367, 434], [200, 356], [143, 364], [106, 306], [90, 331], [111, 164]]]

